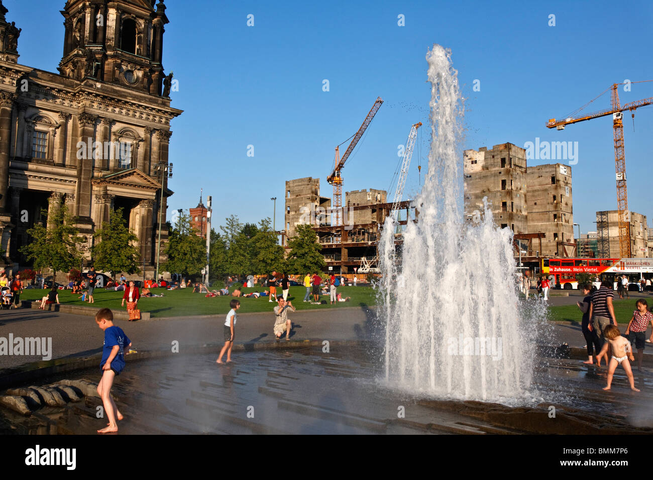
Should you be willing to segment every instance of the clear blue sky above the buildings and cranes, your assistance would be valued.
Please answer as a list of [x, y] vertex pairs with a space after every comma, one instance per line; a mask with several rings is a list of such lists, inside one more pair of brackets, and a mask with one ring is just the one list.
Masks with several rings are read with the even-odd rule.
[[[653, 79], [650, 2], [165, 3], [170, 24], [163, 65], [179, 80], [172, 106], [185, 111], [171, 127], [169, 214], [194, 207], [202, 187], [213, 196], [214, 222], [230, 214], [250, 222], [272, 217], [270, 197], [278, 197], [276, 226], [283, 228], [285, 180], [319, 177], [322, 195], [330, 196], [334, 148], [357, 131], [378, 96], [385, 103], [343, 169], [343, 191], [387, 189], [397, 146], [410, 125], [422, 121], [405, 190], [417, 191], [417, 165], [426, 166], [430, 135], [424, 57], [434, 43], [453, 51], [466, 97], [464, 148], [524, 146], [536, 137], [578, 142], [574, 221], [582, 232], [593, 230], [596, 210], [616, 208], [611, 118], [564, 131], [544, 125], [615, 82]], [[65, 1], [4, 4], [7, 20], [23, 29], [20, 63], [56, 71]], [[193, 7], [200, 17], [191, 15]], [[400, 14], [405, 26], [398, 26]], [[325, 79], [329, 91], [323, 91]], [[480, 91], [473, 91], [474, 80]], [[622, 103], [646, 97], [653, 97], [653, 82], [620, 91]], [[609, 106], [608, 93], [586, 111]], [[651, 107], [635, 112], [634, 131], [624, 115], [628, 204], [646, 216], [652, 127]], [[247, 157], [248, 145], [254, 157]], [[539, 163], [553, 162], [528, 165]]]

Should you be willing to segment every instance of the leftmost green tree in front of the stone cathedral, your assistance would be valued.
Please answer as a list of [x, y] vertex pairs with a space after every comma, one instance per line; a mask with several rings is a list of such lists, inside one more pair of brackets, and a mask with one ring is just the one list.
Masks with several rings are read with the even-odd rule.
[[[48, 216], [48, 211], [43, 210], [42, 215]], [[50, 229], [42, 223], [28, 229], [27, 234], [31, 237], [31, 242], [20, 248], [20, 252], [24, 253], [28, 261], [33, 260], [37, 270], [52, 268], [56, 278], [57, 272], [67, 272], [82, 263], [80, 244], [86, 242], [86, 239], [79, 236], [74, 223], [75, 219], [69, 214], [67, 206], [55, 208], [47, 219]]]

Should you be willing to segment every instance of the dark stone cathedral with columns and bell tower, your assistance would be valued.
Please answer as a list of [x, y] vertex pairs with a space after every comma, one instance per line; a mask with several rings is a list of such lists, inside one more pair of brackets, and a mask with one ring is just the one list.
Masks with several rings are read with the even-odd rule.
[[44, 221], [42, 210], [65, 204], [88, 240], [87, 263], [93, 232], [123, 208], [153, 276], [159, 214], [162, 244], [168, 236], [170, 120], [182, 113], [170, 107], [168, 18], [156, 1], [68, 0], [52, 73], [18, 63], [20, 25], [0, 0], [0, 249], [8, 268], [25, 266], [18, 249]]

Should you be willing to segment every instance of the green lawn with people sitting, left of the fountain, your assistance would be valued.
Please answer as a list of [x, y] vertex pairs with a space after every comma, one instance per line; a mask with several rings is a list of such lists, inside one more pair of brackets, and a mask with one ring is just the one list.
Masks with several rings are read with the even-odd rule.
[[[217, 288], [217, 287], [216, 287]], [[261, 287], [244, 289], [244, 293], [253, 291], [263, 291]], [[233, 291], [233, 288], [229, 289]], [[281, 289], [277, 289], [281, 293]], [[36, 300], [46, 295], [47, 290], [26, 289], [20, 296], [21, 300]], [[297, 310], [315, 310], [327, 308], [342, 307], [360, 307], [375, 304], [375, 292], [372, 287], [338, 287], [338, 292], [342, 293], [343, 298], [351, 296], [349, 302], [338, 302], [336, 305], [311, 305], [304, 303], [305, 287], [291, 287], [289, 300]], [[193, 289], [183, 290], [165, 290], [153, 289], [152, 293], [165, 296], [161, 298], [141, 298], [138, 300], [138, 308], [142, 312], [150, 312], [151, 317], [183, 317], [184, 315], [226, 315], [229, 312], [229, 301], [231, 296], [214, 296], [206, 298], [205, 293], [193, 293]], [[79, 299], [80, 295], [71, 295], [70, 290], [59, 290], [59, 302], [67, 305], [86, 305]], [[113, 310], [124, 309], [120, 306], [123, 292], [113, 290], [95, 289], [93, 306], [97, 308], [108, 307]], [[329, 300], [328, 295], [322, 295], [321, 300]], [[311, 295], [312, 299], [312, 295]], [[248, 312], [270, 312], [272, 305], [268, 302], [268, 297], [260, 298], [240, 298], [240, 313]]]

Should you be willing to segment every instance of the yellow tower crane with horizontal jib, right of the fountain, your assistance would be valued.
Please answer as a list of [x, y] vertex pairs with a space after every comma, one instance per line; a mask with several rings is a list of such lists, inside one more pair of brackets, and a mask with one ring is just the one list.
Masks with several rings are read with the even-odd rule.
[[[644, 82], [653, 82], [653, 80], [643, 80], [643, 82], [629, 82], [629, 84], [639, 84]], [[630, 221], [628, 218], [628, 191], [626, 190], [626, 152], [624, 150], [624, 123], [622, 121], [622, 112], [629, 110], [631, 112], [632, 118], [634, 119], [635, 110], [641, 106], [653, 104], [653, 97], [620, 105], [618, 91], [618, 86], [620, 85], [625, 84], [613, 84], [613, 86], [609, 88], [612, 89], [612, 108], [606, 108], [605, 110], [599, 110], [598, 112], [575, 118], [565, 118], [565, 120], [556, 120], [555, 118], [551, 118], [549, 121], [547, 121], [546, 126], [550, 129], [555, 128], [558, 130], [564, 130], [565, 125], [571, 125], [571, 123], [592, 120], [593, 118], [605, 117], [608, 115], [613, 116], [614, 164], [616, 169], [616, 208], [619, 223], [619, 251], [621, 258], [630, 258]], [[605, 89], [603, 93], [609, 89]], [[601, 93], [601, 95], [603, 95], [603, 93]], [[599, 97], [601, 95], [599, 95]], [[594, 100], [596, 100], [596, 98]], [[592, 103], [594, 100], [586, 103], [573, 114], [577, 114], [577, 112], [585, 108], [585, 106]]]

